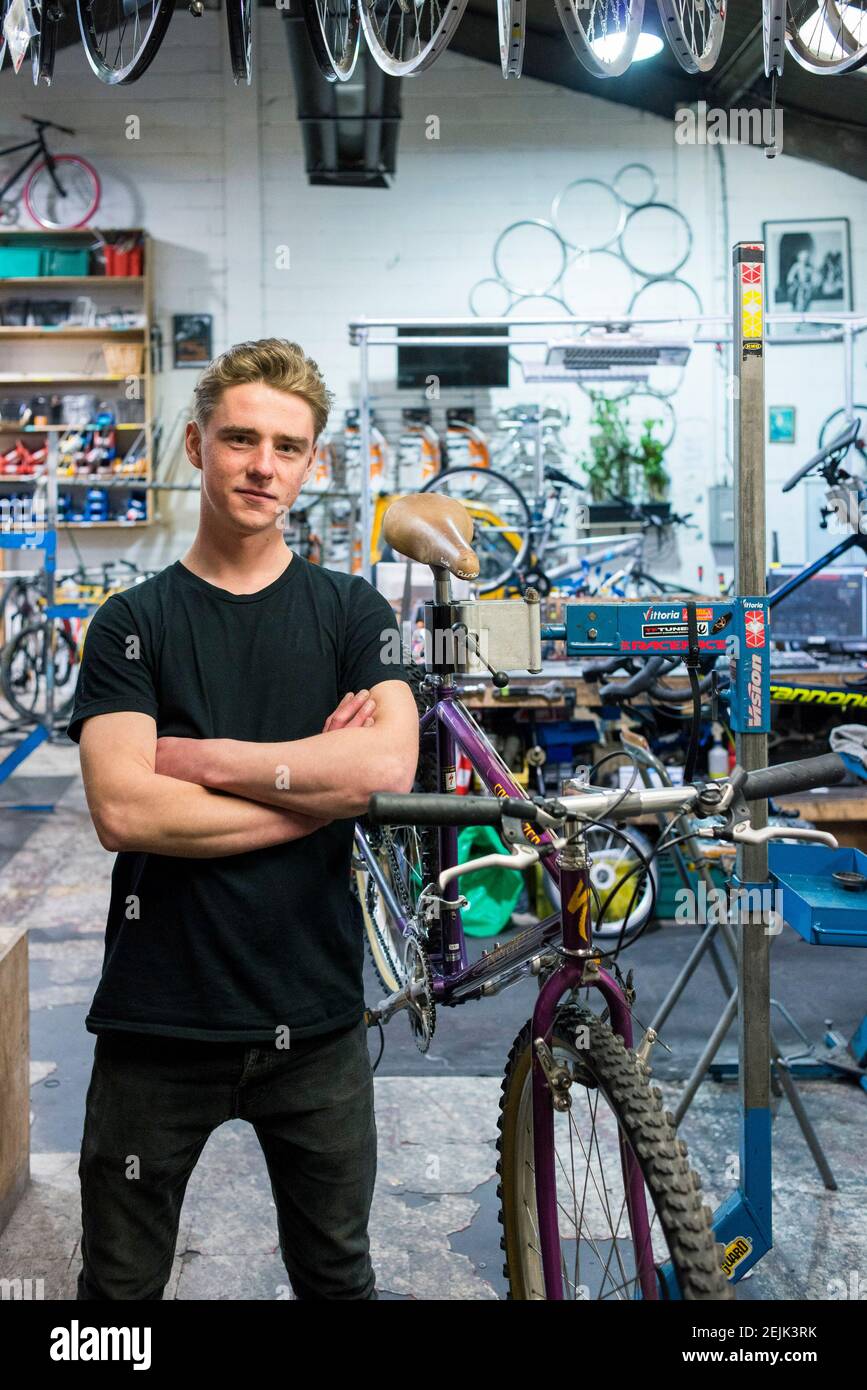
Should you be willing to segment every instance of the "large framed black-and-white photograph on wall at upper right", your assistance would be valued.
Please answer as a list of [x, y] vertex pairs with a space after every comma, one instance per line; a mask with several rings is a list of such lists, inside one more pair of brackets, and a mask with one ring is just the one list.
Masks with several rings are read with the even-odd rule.
[[[852, 309], [848, 217], [763, 222], [767, 314], [845, 313]], [[768, 324], [768, 336], [814, 338], [821, 324]]]

